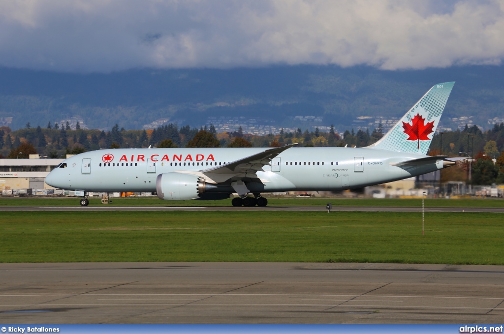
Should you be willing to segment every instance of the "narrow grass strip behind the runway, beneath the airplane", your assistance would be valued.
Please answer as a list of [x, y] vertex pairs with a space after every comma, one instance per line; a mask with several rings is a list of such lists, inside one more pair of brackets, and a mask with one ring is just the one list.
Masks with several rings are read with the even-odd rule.
[[[157, 206], [157, 207], [213, 207], [231, 206], [231, 198], [222, 201], [162, 201], [158, 197], [119, 197], [111, 198], [108, 206]], [[90, 206], [106, 206], [100, 198], [89, 198]], [[422, 200], [417, 198], [268, 198], [268, 205], [275, 207], [325, 207], [328, 202], [333, 206], [343, 207], [421, 207]], [[77, 207], [79, 198], [40, 197], [40, 198], [0, 198], [0, 207]], [[460, 198], [460, 199], [425, 199], [425, 206], [431, 208], [499, 208], [504, 207], [504, 199]]]

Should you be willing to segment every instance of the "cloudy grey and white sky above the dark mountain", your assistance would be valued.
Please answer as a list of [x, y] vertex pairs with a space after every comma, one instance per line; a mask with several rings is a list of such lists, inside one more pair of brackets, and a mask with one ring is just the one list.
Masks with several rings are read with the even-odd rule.
[[0, 66], [59, 72], [500, 64], [504, 0], [0, 2]]

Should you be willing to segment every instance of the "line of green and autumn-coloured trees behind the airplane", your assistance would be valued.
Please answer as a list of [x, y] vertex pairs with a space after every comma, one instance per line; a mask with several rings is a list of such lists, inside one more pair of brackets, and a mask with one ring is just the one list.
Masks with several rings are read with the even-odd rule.
[[[176, 147], [280, 147], [298, 143], [303, 147], [365, 147], [384, 135], [382, 126], [373, 129], [346, 130], [342, 136], [335, 132], [313, 131], [298, 128], [294, 132], [280, 131], [279, 135], [251, 135], [237, 131], [217, 133], [211, 124], [199, 129], [189, 125], [165, 124], [155, 129], [125, 130], [115, 124], [111, 130], [82, 129], [77, 124], [71, 129], [67, 124], [51, 124], [12, 131], [0, 127], [0, 157], [28, 158], [39, 154], [48, 158], [65, 158], [105, 148], [176, 148]], [[436, 132], [429, 155], [467, 156], [475, 160], [471, 166], [473, 184], [504, 183], [504, 123], [481, 131], [476, 125], [455, 131]], [[492, 159], [496, 159], [493, 163]], [[442, 171], [442, 181], [468, 181], [468, 163]]]

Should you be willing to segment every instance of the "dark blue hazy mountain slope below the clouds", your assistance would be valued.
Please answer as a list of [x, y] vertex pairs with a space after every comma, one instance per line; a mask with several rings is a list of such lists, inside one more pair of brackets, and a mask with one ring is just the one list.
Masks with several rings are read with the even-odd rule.
[[17, 129], [28, 121], [45, 127], [48, 121], [80, 117], [89, 128], [117, 123], [138, 129], [163, 118], [199, 127], [208, 117], [245, 117], [303, 129], [333, 123], [344, 130], [356, 126], [359, 116], [402, 116], [432, 85], [456, 81], [443, 125], [455, 129], [457, 122], [471, 120], [486, 129], [492, 126], [489, 119], [504, 121], [502, 78], [503, 66], [394, 72], [364, 66], [274, 66], [87, 75], [0, 68], [0, 121], [12, 117], [10, 126]]

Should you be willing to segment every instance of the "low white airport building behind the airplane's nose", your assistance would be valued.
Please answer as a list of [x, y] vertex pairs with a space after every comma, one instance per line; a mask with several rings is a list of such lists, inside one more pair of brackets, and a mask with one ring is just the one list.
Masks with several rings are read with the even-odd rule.
[[63, 160], [47, 159], [37, 154], [30, 155], [29, 159], [0, 159], [0, 191], [14, 194], [20, 189], [30, 189], [28, 192], [54, 189], [44, 179]]

